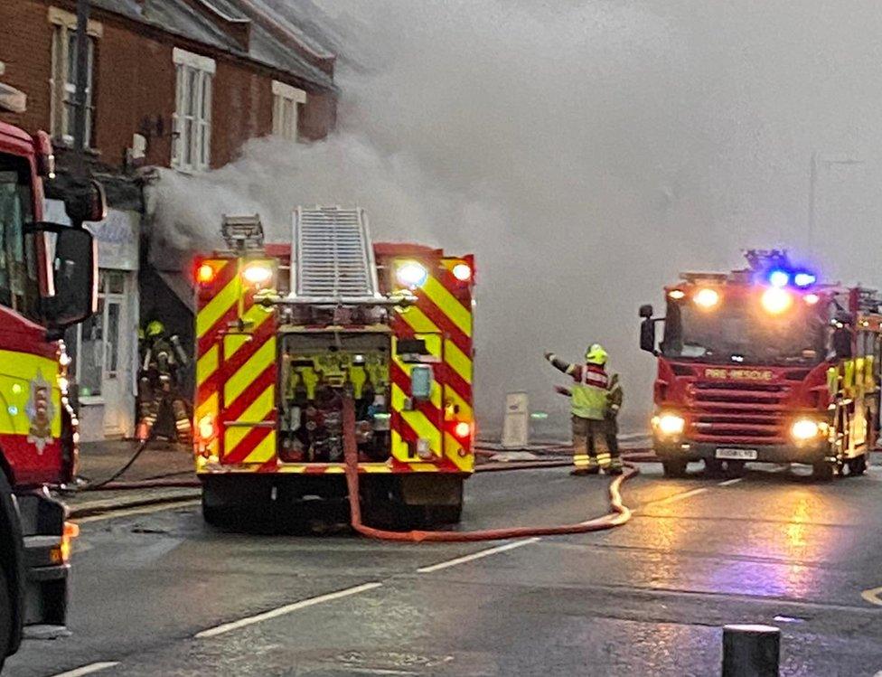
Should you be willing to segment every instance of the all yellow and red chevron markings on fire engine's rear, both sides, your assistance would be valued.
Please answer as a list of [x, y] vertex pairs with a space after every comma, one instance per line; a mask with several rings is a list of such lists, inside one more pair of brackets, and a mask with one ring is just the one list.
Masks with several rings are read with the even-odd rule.
[[[468, 473], [474, 468], [471, 445], [452, 434], [457, 422], [474, 424], [471, 286], [451, 273], [462, 261], [433, 260], [418, 303], [394, 319], [394, 340], [416, 337], [426, 342], [437, 361], [436, 383], [428, 401], [406, 410], [412, 367], [393, 357], [392, 455], [386, 463], [360, 464], [362, 473]], [[198, 294], [196, 419], [216, 417], [220, 437], [211, 442], [209, 453], [197, 457], [197, 471], [342, 474], [342, 464], [278, 463], [276, 322], [242, 283], [239, 259], [202, 263], [210, 264], [216, 275]], [[434, 452], [431, 462], [412, 456], [420, 438]]]

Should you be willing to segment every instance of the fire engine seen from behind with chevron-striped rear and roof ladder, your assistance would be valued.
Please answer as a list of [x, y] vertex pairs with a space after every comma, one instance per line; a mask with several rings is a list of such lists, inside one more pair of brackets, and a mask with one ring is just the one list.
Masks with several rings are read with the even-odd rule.
[[358, 209], [297, 209], [293, 246], [226, 217], [196, 262], [203, 514], [346, 496], [354, 401], [368, 518], [457, 522], [472, 440], [471, 256], [372, 244]]

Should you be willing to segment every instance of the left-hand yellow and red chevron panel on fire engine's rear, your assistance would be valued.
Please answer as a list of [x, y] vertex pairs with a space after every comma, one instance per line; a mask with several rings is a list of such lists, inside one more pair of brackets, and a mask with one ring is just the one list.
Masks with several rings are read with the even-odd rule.
[[197, 295], [195, 418], [214, 417], [220, 434], [207, 451], [221, 464], [265, 465], [276, 459], [276, 323], [241, 263], [202, 261], [215, 277]]

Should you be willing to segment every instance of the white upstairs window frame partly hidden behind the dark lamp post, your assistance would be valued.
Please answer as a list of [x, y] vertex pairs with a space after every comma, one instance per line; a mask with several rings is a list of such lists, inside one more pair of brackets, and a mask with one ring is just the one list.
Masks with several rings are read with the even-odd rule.
[[[58, 7], [50, 7], [48, 14], [52, 32], [52, 71], [49, 80], [50, 88], [50, 127], [52, 136], [63, 144], [73, 144], [74, 120], [70, 116], [69, 106], [75, 103], [77, 83], [71, 82], [70, 41], [76, 40], [77, 15], [65, 12]], [[95, 109], [92, 105], [92, 85], [95, 78], [95, 47], [96, 42], [104, 35], [104, 27], [96, 21], [89, 21], [86, 29], [89, 35], [89, 81], [86, 83], [86, 147], [92, 146], [92, 125]]]

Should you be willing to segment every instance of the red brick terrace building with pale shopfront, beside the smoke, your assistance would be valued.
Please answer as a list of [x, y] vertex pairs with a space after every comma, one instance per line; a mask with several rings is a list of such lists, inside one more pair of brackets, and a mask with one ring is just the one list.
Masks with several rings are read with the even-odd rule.
[[[337, 90], [333, 53], [264, 0], [91, 5], [87, 155], [111, 209], [108, 221], [91, 227], [99, 240], [100, 311], [69, 344], [83, 431], [100, 438], [134, 429], [141, 303], [176, 302], [162, 277], [145, 267], [149, 242], [141, 223], [150, 167], [192, 174], [227, 164], [255, 136], [324, 138], [334, 127]], [[53, 221], [66, 219], [53, 198], [69, 180], [75, 11], [75, 0], [0, 2], [0, 80], [27, 97], [22, 113], [0, 119], [52, 134], [60, 167], [47, 188]]]

